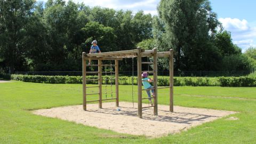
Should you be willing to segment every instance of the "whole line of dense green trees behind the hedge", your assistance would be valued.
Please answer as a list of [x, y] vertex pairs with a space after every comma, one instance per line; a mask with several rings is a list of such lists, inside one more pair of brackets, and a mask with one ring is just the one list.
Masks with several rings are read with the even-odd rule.
[[[94, 39], [102, 52], [172, 48], [175, 70], [255, 68], [255, 56], [232, 43], [208, 0], [162, 0], [157, 9], [152, 16], [73, 1], [0, 0], [0, 69], [81, 70], [81, 53]], [[131, 67], [131, 59], [121, 61], [121, 70]], [[159, 69], [168, 68], [159, 59]]]

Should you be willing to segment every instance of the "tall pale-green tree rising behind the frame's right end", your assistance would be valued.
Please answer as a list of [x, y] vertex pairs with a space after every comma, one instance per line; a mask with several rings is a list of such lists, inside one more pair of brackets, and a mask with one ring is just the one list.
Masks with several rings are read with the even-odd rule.
[[[157, 10], [154, 37], [161, 42], [159, 50], [174, 49], [175, 69], [214, 70], [219, 58], [211, 37], [219, 22], [210, 2], [162, 0]], [[211, 65], [207, 63], [209, 60]]]

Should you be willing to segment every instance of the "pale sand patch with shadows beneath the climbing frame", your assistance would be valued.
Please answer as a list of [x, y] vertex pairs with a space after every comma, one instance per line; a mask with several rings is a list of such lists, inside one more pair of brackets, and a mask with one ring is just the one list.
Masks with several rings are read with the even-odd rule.
[[[101, 129], [113, 130], [119, 133], [161, 137], [178, 133], [190, 127], [213, 121], [223, 116], [235, 114], [234, 111], [212, 110], [202, 108], [187, 108], [174, 106], [170, 113], [169, 106], [158, 105], [158, 116], [153, 115], [153, 108], [143, 109], [143, 118], [138, 118], [138, 109], [131, 102], [120, 102], [121, 111], [117, 111], [115, 102], [103, 103], [103, 109], [98, 103], [87, 105], [84, 111], [82, 105], [39, 109], [33, 111], [36, 115], [60, 118], [79, 124], [96, 126]], [[137, 106], [137, 103], [134, 103]], [[143, 104], [143, 107], [148, 106]]]

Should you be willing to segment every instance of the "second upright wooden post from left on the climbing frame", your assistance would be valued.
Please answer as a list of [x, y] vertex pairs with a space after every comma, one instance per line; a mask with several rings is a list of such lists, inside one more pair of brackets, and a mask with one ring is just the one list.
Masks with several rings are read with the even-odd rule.
[[98, 60], [99, 108], [102, 108], [102, 60]]

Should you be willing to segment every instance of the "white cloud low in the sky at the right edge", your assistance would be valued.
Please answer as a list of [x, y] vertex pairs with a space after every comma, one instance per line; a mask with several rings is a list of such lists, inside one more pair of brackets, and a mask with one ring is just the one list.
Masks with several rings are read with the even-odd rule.
[[231, 32], [234, 44], [245, 51], [250, 46], [256, 45], [256, 27], [251, 27], [246, 20], [220, 18], [223, 27]]

